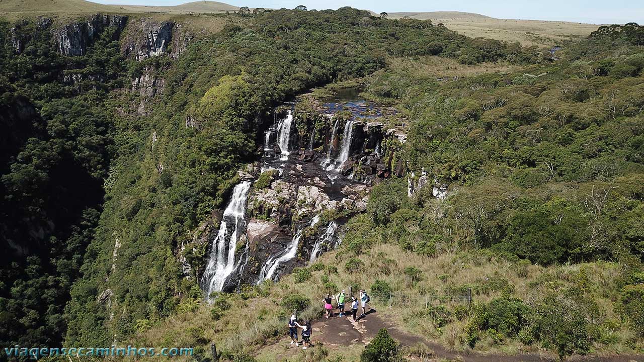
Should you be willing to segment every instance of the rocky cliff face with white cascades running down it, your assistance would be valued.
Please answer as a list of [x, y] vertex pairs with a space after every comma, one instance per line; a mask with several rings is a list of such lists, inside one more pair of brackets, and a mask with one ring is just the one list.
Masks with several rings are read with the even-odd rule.
[[[366, 210], [372, 184], [404, 173], [399, 132], [383, 122], [388, 111], [366, 102], [286, 108], [265, 124], [264, 157], [239, 173], [242, 183], [251, 182], [243, 215], [237, 214], [243, 216], [242, 227], [231, 234], [213, 222], [193, 246], [205, 248], [210, 265], [231, 265], [221, 291], [276, 280], [314, 262], [341, 243], [346, 220]], [[204, 265], [193, 265], [189, 274], [204, 275], [204, 290], [212, 290]]]

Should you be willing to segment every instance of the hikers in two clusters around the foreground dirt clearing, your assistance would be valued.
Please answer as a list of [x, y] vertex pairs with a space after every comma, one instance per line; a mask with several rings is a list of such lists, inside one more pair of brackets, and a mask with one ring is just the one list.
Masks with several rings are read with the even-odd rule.
[[[357, 319], [363, 318], [366, 316], [366, 309], [367, 309], [367, 303], [371, 300], [371, 298], [366, 294], [365, 289], [360, 290], [360, 295], [359, 298], [355, 298], [355, 296], [348, 296], [346, 294], [345, 290], [343, 289], [341, 292], [339, 292], [336, 296], [333, 296], [331, 294], [327, 294], [325, 298], [323, 298], [323, 303], [324, 303], [324, 309], [327, 312], [327, 318], [333, 317], [333, 301], [336, 301], [336, 308], [339, 310], [339, 316], [343, 317], [345, 315], [350, 315], [352, 316], [354, 321], [357, 321]], [[350, 300], [351, 301], [351, 312], [350, 314], [345, 313], [345, 302]], [[362, 314], [360, 316], [357, 316], [358, 312], [358, 307], [362, 308]], [[290, 344], [291, 345], [296, 345], [299, 346], [299, 341], [298, 341], [298, 328], [302, 330], [301, 336], [302, 336], [302, 349], [307, 349], [308, 347], [311, 347], [311, 321], [307, 320], [306, 322], [303, 322], [303, 324], [298, 323], [298, 318], [293, 314], [290, 316], [289, 319], [289, 336], [290, 336]]]

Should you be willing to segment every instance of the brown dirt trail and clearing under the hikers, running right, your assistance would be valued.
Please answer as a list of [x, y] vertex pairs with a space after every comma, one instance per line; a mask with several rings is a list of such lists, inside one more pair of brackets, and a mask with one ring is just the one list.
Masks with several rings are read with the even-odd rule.
[[[484, 355], [467, 352], [455, 352], [447, 350], [439, 343], [434, 343], [423, 339], [419, 336], [414, 336], [397, 329], [391, 323], [384, 321], [375, 313], [367, 314], [365, 317], [358, 321], [352, 321], [351, 317], [334, 316], [333, 318], [321, 318], [312, 322], [312, 336], [311, 342], [313, 345], [322, 343], [325, 347], [333, 350], [334, 347], [349, 347], [356, 345], [356, 347], [363, 348], [367, 345], [378, 333], [380, 329], [386, 328], [391, 336], [396, 339], [403, 346], [413, 345], [426, 345], [433, 350], [435, 357], [433, 360], [440, 359], [455, 359], [462, 362], [547, 362], [558, 361], [554, 356], [541, 355], [541, 354], [522, 354], [518, 356], [502, 356], [502, 355]], [[281, 339], [278, 344], [288, 346], [290, 338]], [[281, 357], [290, 357], [298, 354], [301, 348], [294, 346], [288, 348]], [[644, 362], [644, 356], [576, 356], [568, 361], [578, 362]]]

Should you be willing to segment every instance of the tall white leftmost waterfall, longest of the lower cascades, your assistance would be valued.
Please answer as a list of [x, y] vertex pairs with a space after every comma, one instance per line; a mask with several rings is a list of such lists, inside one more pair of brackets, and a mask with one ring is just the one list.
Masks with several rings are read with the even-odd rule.
[[235, 267], [237, 238], [246, 226], [244, 211], [251, 182], [244, 181], [232, 190], [231, 201], [223, 212], [219, 233], [213, 240], [210, 260], [202, 277], [202, 286], [209, 300], [212, 292], [223, 289], [223, 283]]

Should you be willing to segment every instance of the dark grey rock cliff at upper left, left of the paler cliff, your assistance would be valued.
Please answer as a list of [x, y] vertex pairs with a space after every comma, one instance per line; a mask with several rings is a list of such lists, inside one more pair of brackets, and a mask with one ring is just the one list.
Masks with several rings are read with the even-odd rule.
[[107, 28], [114, 28], [113, 39], [118, 39], [127, 21], [128, 17], [124, 15], [93, 15], [87, 21], [66, 24], [55, 30], [55, 43], [62, 55], [85, 55], [88, 47]]

